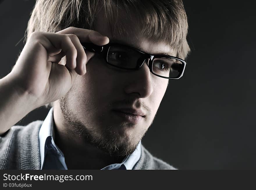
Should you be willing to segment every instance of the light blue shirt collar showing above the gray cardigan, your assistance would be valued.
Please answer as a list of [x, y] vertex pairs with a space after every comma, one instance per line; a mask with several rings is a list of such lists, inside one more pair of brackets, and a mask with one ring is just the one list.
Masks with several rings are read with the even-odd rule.
[[[61, 150], [58, 149], [58, 147], [54, 143], [54, 130], [53, 130], [53, 125], [54, 125], [54, 118], [53, 118], [53, 107], [49, 110], [49, 113], [47, 114], [44, 122], [42, 123], [42, 126], [39, 131], [39, 148], [40, 148], [40, 158], [41, 158], [41, 169], [44, 164], [44, 159], [45, 159], [45, 148], [47, 145], [47, 137], [51, 137], [51, 143], [54, 147], [56, 147], [57, 151], [62, 154]], [[49, 138], [48, 138], [49, 139]], [[63, 155], [63, 154], [62, 154]], [[134, 165], [138, 162], [138, 160], [141, 157], [141, 141], [138, 143], [135, 151], [126, 156], [122, 163], [120, 164], [111, 164], [109, 166], [104, 167], [103, 169], [108, 169], [108, 168], [115, 168], [115, 165], [124, 165], [127, 170], [130, 170], [134, 167]]]

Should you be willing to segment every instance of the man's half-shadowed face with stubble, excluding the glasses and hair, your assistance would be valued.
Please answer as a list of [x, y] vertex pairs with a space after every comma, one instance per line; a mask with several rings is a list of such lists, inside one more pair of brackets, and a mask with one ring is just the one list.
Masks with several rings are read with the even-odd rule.
[[[135, 35], [113, 38], [106, 21], [98, 20], [96, 26], [95, 30], [108, 36], [110, 42], [149, 54], [173, 54], [170, 46], [150, 41], [140, 30]], [[113, 155], [131, 154], [154, 119], [168, 79], [153, 75], [147, 63], [139, 70], [122, 70], [108, 65], [97, 54], [86, 68], [87, 73], [77, 76], [74, 86], [60, 100], [64, 118], [97, 147]]]

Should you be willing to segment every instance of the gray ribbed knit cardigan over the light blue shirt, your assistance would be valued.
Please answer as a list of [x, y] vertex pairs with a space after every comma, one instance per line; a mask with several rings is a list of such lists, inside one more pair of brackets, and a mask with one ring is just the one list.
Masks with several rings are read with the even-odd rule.
[[[43, 121], [13, 126], [0, 136], [0, 169], [40, 169], [38, 133]], [[141, 158], [133, 169], [175, 169], [155, 158], [141, 145]]]

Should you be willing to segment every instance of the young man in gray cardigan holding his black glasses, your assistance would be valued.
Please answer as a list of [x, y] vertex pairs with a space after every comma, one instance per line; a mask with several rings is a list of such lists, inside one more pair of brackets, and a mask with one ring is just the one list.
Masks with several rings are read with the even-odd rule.
[[[0, 80], [0, 168], [175, 169], [141, 139], [183, 75], [187, 29], [182, 1], [36, 1]], [[44, 121], [13, 126], [47, 104]]]

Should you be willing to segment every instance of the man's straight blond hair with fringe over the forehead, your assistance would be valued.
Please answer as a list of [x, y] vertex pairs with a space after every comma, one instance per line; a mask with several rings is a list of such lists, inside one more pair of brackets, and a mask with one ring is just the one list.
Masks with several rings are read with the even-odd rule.
[[70, 26], [93, 30], [100, 10], [114, 34], [127, 32], [125, 20], [120, 19], [120, 12], [125, 11], [126, 19], [136, 15], [142, 34], [148, 39], [166, 42], [182, 59], [190, 51], [182, 0], [37, 0], [25, 41], [34, 31], [58, 32]]

